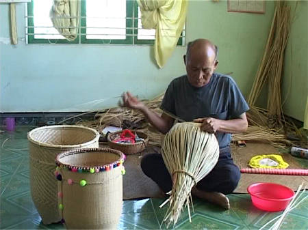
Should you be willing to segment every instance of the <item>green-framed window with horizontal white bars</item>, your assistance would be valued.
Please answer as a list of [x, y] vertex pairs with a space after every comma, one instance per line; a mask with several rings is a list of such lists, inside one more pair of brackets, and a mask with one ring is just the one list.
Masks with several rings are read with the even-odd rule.
[[[81, 0], [79, 33], [73, 42], [53, 28], [49, 18], [52, 4], [53, 0], [32, 0], [27, 4], [28, 43], [154, 44], [155, 29], [142, 29], [136, 0]], [[183, 44], [182, 35], [178, 45]]]

